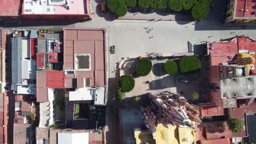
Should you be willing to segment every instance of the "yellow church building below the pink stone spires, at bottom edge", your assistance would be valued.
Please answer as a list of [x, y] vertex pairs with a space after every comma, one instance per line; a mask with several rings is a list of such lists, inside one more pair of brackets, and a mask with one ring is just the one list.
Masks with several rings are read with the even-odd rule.
[[134, 131], [136, 144], [195, 144], [196, 137], [193, 128], [182, 125], [168, 125], [168, 128], [158, 124], [155, 133], [149, 131]]

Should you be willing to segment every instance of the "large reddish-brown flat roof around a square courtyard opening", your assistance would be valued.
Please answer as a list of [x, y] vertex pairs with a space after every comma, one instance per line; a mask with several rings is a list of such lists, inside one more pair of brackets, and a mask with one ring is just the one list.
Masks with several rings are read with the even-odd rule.
[[106, 35], [104, 29], [65, 28], [63, 69], [74, 70], [75, 54], [90, 54], [91, 69], [76, 70], [75, 78], [91, 79], [92, 87], [107, 85]]

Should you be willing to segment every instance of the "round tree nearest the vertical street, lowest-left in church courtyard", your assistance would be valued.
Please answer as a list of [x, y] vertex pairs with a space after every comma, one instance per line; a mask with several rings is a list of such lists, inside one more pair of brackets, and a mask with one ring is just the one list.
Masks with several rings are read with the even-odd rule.
[[122, 75], [119, 80], [119, 88], [122, 92], [130, 92], [135, 86], [135, 80], [131, 75]]

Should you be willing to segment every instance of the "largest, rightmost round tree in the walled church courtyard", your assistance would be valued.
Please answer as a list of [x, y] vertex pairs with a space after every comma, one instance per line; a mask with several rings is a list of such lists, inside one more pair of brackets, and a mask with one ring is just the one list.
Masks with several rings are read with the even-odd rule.
[[182, 73], [195, 73], [201, 69], [201, 62], [195, 56], [183, 57], [179, 61], [179, 69], [181, 69]]

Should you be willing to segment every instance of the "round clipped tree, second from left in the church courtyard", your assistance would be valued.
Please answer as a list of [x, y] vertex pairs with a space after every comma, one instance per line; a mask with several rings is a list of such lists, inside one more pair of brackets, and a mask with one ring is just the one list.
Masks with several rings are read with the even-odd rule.
[[142, 58], [136, 63], [136, 73], [139, 76], [146, 76], [152, 70], [152, 62], [149, 59]]

